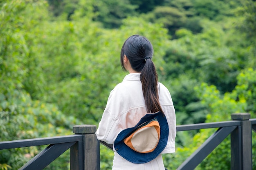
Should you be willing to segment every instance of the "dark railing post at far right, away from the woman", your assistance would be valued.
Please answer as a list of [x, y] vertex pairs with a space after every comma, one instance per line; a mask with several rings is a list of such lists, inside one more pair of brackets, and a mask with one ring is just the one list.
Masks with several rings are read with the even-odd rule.
[[231, 133], [231, 170], [252, 170], [252, 124], [249, 113], [233, 113], [241, 126]]

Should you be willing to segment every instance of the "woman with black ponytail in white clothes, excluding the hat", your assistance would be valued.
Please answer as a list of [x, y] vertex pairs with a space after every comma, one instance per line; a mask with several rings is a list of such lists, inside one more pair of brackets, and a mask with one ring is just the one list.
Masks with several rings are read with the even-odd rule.
[[145, 37], [132, 35], [124, 42], [121, 66], [130, 74], [110, 92], [97, 138], [114, 144], [121, 131], [134, 127], [147, 113], [161, 111], [168, 122], [167, 144], [161, 154], [146, 163], [132, 163], [121, 157], [114, 147], [112, 170], [164, 170], [162, 154], [175, 152], [175, 109], [168, 89], [158, 82], [152, 56], [153, 46]]

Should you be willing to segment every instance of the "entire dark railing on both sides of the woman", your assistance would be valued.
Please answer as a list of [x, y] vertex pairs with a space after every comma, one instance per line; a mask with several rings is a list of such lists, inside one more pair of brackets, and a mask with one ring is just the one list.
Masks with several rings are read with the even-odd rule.
[[[250, 119], [249, 113], [234, 113], [231, 118], [232, 121], [226, 122], [177, 126], [177, 132], [218, 128], [177, 169], [195, 169], [230, 134], [231, 170], [252, 170], [252, 130], [256, 132], [256, 119]], [[71, 170], [99, 170], [100, 151], [96, 130], [95, 125], [76, 125], [73, 127], [74, 135], [0, 142], [0, 150], [49, 145], [20, 168], [20, 170], [41, 170], [70, 148]], [[102, 141], [101, 143], [112, 149], [111, 144]]]

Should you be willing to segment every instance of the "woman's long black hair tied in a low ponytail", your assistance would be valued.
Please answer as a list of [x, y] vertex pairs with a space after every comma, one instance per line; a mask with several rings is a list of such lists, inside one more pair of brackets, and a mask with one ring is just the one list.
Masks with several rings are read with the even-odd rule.
[[150, 41], [140, 35], [132, 35], [124, 42], [121, 48], [120, 61], [123, 70], [124, 54], [130, 61], [131, 67], [136, 72], [140, 72], [140, 81], [142, 83], [142, 92], [148, 113], [162, 111], [158, 96], [158, 77], [153, 63], [153, 46]]

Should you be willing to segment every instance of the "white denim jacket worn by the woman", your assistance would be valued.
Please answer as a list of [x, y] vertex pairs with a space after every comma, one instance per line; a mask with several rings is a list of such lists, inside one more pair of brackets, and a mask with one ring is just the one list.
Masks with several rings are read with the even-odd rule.
[[[111, 92], [106, 109], [99, 122], [97, 138], [113, 144], [119, 132], [133, 127], [147, 113], [139, 73], [125, 76]], [[175, 152], [176, 117], [173, 101], [168, 89], [159, 83], [159, 102], [166, 115], [169, 136], [166, 148], [162, 153]], [[115, 148], [113, 148], [115, 150]]]

